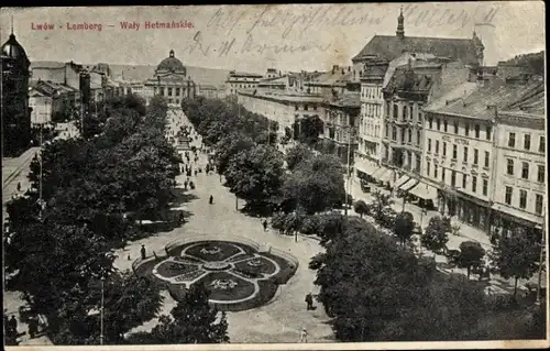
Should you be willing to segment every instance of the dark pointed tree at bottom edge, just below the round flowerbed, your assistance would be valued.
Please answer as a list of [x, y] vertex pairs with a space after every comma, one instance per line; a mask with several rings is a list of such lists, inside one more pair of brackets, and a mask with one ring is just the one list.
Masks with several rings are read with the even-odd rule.
[[218, 318], [218, 310], [208, 304], [208, 295], [202, 284], [191, 285], [172, 316], [161, 316], [160, 323], [150, 333], [141, 332], [135, 339], [129, 339], [153, 344], [229, 342], [226, 314]]

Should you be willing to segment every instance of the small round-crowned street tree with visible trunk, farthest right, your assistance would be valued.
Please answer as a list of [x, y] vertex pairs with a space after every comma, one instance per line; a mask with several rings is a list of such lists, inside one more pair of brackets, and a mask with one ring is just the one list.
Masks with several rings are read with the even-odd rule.
[[528, 279], [539, 268], [540, 243], [525, 229], [516, 229], [493, 245], [492, 261], [504, 278], [514, 277], [514, 296], [519, 278]]

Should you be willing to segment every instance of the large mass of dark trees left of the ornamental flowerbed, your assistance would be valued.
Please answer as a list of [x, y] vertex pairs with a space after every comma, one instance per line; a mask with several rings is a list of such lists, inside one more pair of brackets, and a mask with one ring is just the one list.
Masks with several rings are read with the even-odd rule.
[[[143, 234], [140, 220], [165, 220], [175, 200], [182, 160], [165, 138], [167, 105], [154, 98], [145, 108], [128, 96], [99, 111], [85, 120], [82, 138], [44, 146], [31, 164], [31, 188], [8, 204], [7, 284], [46, 318], [54, 344], [129, 342], [124, 333], [163, 303], [154, 282], [113, 267], [113, 250]], [[173, 316], [197, 315], [207, 328], [196, 332], [182, 327], [189, 319], [166, 316], [140, 342], [227, 341], [224, 318], [215, 323], [216, 311], [205, 309], [204, 287], [189, 294]]]

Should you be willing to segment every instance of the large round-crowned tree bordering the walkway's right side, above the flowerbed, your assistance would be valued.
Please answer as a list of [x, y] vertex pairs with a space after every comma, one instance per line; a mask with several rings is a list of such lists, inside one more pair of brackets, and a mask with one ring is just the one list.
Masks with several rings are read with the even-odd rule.
[[265, 204], [280, 191], [283, 157], [267, 145], [241, 151], [231, 158], [226, 179], [231, 193], [249, 201], [250, 206]]

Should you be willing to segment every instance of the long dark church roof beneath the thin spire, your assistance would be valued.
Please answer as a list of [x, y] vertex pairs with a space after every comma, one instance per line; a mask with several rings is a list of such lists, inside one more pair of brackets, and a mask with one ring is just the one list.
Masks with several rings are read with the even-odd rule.
[[436, 56], [460, 59], [468, 64], [477, 64], [475, 42], [473, 39], [448, 39], [374, 35], [374, 37], [355, 55], [352, 61], [376, 57], [392, 61], [403, 53], [422, 52]]

